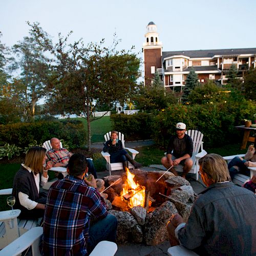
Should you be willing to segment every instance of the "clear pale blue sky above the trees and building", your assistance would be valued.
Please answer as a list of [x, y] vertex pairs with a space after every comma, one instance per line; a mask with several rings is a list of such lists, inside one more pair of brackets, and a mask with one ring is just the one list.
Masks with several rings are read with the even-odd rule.
[[[28, 35], [26, 21], [39, 22], [53, 41], [58, 33], [74, 33], [71, 40], [85, 42], [105, 38], [109, 46], [114, 32], [120, 49], [133, 45], [141, 53], [146, 25], [153, 21], [163, 51], [256, 47], [254, 0], [5, 0], [1, 2], [1, 41], [12, 46]], [[140, 54], [141, 56], [141, 54]]]

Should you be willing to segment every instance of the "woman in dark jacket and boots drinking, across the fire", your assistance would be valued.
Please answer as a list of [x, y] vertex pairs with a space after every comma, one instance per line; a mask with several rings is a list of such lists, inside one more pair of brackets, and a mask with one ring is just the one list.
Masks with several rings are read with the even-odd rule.
[[126, 150], [123, 149], [122, 141], [118, 139], [118, 133], [116, 131], [111, 132], [110, 140], [106, 141], [103, 147], [103, 152], [109, 152], [111, 163], [123, 163], [123, 169], [128, 168], [128, 161], [134, 165], [135, 168], [139, 168], [142, 164], [136, 162]]

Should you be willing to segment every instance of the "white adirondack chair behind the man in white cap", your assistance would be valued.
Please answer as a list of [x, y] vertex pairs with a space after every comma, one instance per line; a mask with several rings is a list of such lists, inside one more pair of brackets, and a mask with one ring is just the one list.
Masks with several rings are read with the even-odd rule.
[[[194, 146], [194, 151], [192, 155], [192, 160], [193, 160], [193, 166], [190, 169], [189, 173], [195, 174], [196, 175], [196, 180], [198, 180], [198, 171], [199, 171], [199, 159], [202, 158], [207, 154], [205, 150], [203, 150], [203, 134], [199, 131], [196, 130], [188, 130], [185, 132], [187, 135], [191, 137], [193, 140], [193, 146]], [[199, 152], [200, 151], [200, 152]], [[166, 155], [166, 153], [164, 153]], [[176, 172], [183, 172], [183, 165], [179, 164], [175, 166]]]

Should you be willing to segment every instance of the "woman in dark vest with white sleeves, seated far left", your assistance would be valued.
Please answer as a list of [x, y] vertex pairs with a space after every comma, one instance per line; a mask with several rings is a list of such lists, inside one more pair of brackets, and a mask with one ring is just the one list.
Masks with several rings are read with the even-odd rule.
[[46, 197], [39, 194], [39, 187], [48, 181], [46, 149], [31, 147], [26, 154], [25, 163], [20, 166], [14, 176], [12, 195], [15, 197], [14, 208], [20, 209], [21, 219], [33, 219], [44, 216]]

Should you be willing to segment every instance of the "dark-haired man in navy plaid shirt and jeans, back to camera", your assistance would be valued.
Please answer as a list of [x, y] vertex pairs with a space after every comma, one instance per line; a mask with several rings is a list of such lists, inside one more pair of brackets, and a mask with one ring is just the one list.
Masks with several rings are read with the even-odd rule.
[[88, 255], [98, 242], [115, 241], [117, 219], [106, 211], [94, 177], [83, 179], [86, 169], [86, 157], [74, 154], [67, 167], [69, 175], [51, 186], [42, 255]]

